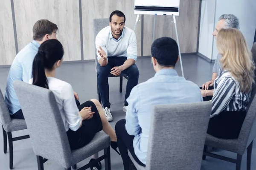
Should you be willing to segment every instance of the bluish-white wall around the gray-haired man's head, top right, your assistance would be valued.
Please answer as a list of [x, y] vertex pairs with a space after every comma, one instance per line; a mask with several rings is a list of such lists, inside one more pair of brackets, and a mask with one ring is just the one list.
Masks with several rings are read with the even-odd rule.
[[[253, 46], [255, 28], [256, 28], [256, 0], [216, 0], [215, 24], [221, 14], [234, 14], [239, 18], [240, 31], [246, 38], [248, 47]], [[213, 45], [212, 58], [218, 55], [216, 40]]]

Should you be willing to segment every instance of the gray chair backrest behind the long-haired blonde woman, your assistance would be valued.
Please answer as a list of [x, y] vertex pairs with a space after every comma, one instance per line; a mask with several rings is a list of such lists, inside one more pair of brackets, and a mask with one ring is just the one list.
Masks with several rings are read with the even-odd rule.
[[256, 137], [256, 85], [254, 85], [250, 102], [247, 106], [247, 114], [241, 127], [238, 138], [238, 152], [244, 153], [249, 144]]

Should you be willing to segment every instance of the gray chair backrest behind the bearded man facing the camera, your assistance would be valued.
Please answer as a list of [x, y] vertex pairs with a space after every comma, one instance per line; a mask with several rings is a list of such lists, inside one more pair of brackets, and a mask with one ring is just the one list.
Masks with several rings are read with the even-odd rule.
[[[97, 34], [99, 33], [100, 30], [102, 30], [103, 28], [105, 28], [107, 26], [109, 26], [109, 18], [93, 19], [94, 46], [95, 46], [95, 39], [96, 39]], [[97, 60], [97, 54], [96, 54], [96, 48], [95, 48], [95, 64], [97, 64], [97, 62], [98, 62], [98, 60]]]

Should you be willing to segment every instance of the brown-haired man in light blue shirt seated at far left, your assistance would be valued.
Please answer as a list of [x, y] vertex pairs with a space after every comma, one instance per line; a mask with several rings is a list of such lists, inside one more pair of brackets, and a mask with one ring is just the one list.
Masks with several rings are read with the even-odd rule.
[[57, 39], [58, 27], [49, 20], [38, 20], [33, 26], [33, 41], [29, 42], [15, 57], [6, 81], [5, 101], [11, 117], [24, 119], [17, 95], [13, 88], [13, 82], [20, 80], [28, 83], [32, 77], [32, 63], [38, 48], [46, 40]]

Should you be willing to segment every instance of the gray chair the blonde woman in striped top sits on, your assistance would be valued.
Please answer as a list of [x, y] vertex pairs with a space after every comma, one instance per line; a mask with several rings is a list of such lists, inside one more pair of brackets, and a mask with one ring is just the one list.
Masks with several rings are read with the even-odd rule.
[[[210, 156], [216, 159], [229, 161], [236, 164], [236, 170], [241, 170], [242, 156], [247, 150], [247, 170], [250, 170], [251, 154], [253, 149], [253, 139], [256, 137], [256, 87], [252, 89], [250, 103], [247, 109], [247, 115], [241, 127], [238, 139], [219, 139], [207, 134], [204, 147], [203, 159]], [[217, 155], [207, 151], [207, 147], [215, 147], [222, 150], [237, 153], [236, 159], [231, 159], [225, 156]]]

